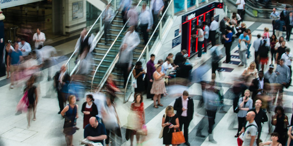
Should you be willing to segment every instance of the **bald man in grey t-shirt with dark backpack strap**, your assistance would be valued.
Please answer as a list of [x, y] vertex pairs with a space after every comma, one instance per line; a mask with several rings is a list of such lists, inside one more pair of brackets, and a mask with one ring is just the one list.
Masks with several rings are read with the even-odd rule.
[[[246, 125], [246, 130], [244, 131], [243, 144], [242, 146], [257, 146], [256, 139], [258, 135], [257, 125], [254, 121], [255, 113], [250, 111], [246, 115], [246, 120], [248, 121]], [[253, 125], [253, 126], [250, 126]]]

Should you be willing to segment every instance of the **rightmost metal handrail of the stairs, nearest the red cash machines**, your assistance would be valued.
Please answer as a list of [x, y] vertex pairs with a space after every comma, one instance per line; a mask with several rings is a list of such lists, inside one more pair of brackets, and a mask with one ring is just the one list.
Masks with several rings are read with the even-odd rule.
[[[149, 44], [151, 38], [152, 38], [152, 37], [154, 36], [154, 34], [156, 33], [156, 31], [157, 31], [157, 29], [158, 29], [160, 23], [162, 22], [162, 20], [163, 20], [165, 14], [167, 13], [167, 10], [168, 10], [169, 6], [172, 4], [172, 2], [173, 2], [173, 0], [170, 0], [169, 5], [167, 6], [167, 9], [166, 9], [165, 13], [162, 15], [162, 18], [160, 19], [159, 23], [157, 24], [157, 27], [156, 27], [155, 30], [153, 31], [152, 35], [149, 37], [149, 39], [148, 39], [148, 41], [147, 41], [147, 43], [146, 43], [146, 46], [145, 46], [144, 50], [142, 51], [142, 54], [138, 57], [138, 59], [137, 59], [138, 61], [139, 61], [139, 60], [142, 58], [142, 56], [144, 55], [144, 53], [145, 53], [145, 51], [146, 51], [146, 48], [148, 48], [148, 44]], [[160, 30], [160, 31], [162, 31], [162, 30]], [[133, 69], [134, 69], [134, 68], [135, 68], [135, 66], [132, 68], [131, 72], [129, 73], [129, 75], [128, 75], [128, 77], [127, 77], [126, 86], [125, 86], [125, 91], [124, 91], [124, 103], [126, 102], [126, 101], [125, 101], [125, 96], [126, 96], [126, 88], [127, 88], [127, 84], [128, 84], [128, 81], [129, 81], [129, 79], [130, 79], [130, 77], [131, 77], [131, 75], [132, 75], [132, 72], [133, 72]], [[148, 72], [148, 71], [147, 71], [147, 72]], [[127, 98], [128, 98], [128, 97], [127, 97]], [[128, 101], [128, 99], [127, 99], [127, 101]]]

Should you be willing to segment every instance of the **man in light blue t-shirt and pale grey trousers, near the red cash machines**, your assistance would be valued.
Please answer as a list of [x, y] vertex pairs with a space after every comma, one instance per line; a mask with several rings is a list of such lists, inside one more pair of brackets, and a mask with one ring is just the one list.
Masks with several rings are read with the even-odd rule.
[[243, 34], [241, 34], [239, 36], [239, 39], [238, 39], [238, 41], [239, 41], [238, 52], [239, 52], [239, 58], [241, 60], [241, 64], [239, 64], [238, 66], [244, 66], [245, 65], [245, 68], [247, 68], [247, 62], [246, 62], [246, 56], [245, 56], [246, 55], [246, 50], [240, 51], [241, 50], [240, 49], [240, 43], [241, 43], [241, 41], [244, 41], [246, 45], [247, 45], [247, 43], [250, 43], [250, 39], [249, 39], [249, 36], [247, 34], [248, 34], [247, 31], [243, 32]]

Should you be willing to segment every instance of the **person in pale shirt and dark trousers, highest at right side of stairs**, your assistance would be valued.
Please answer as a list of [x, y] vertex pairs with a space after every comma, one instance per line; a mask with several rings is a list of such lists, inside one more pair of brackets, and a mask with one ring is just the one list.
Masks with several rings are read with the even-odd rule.
[[151, 0], [150, 7], [152, 10], [153, 20], [154, 20], [152, 29], [155, 30], [157, 27], [159, 15], [161, 11], [163, 11], [164, 9], [164, 2], [163, 0]]

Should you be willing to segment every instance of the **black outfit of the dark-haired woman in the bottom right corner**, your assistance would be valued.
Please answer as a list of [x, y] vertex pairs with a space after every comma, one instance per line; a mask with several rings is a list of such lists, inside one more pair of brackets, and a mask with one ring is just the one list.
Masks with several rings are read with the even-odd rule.
[[287, 131], [288, 129], [285, 127], [285, 114], [283, 114], [280, 118], [277, 116], [277, 124], [273, 132], [277, 132], [279, 134], [278, 142], [281, 143], [283, 146], [286, 145], [288, 140]]

